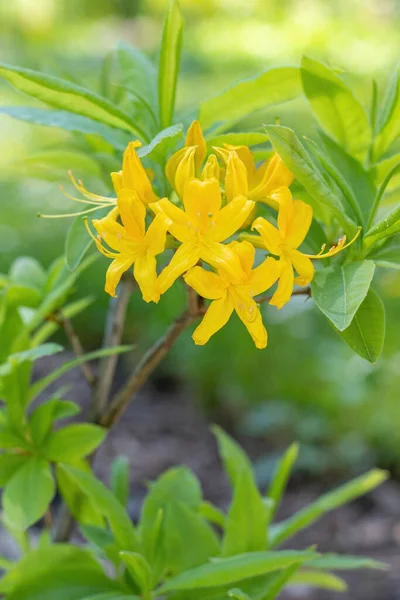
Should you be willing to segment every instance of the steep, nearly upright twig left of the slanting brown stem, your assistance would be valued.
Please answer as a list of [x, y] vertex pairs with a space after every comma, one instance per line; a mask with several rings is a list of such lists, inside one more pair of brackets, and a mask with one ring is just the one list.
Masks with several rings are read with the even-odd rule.
[[[118, 297], [110, 299], [102, 344], [103, 348], [110, 348], [120, 344], [124, 330], [126, 310], [133, 288], [134, 280], [131, 277], [129, 279], [122, 279], [118, 288]], [[118, 356], [116, 354], [106, 356], [100, 361], [99, 376], [91, 402], [91, 420], [95, 423], [100, 422], [106, 410], [117, 361]]]

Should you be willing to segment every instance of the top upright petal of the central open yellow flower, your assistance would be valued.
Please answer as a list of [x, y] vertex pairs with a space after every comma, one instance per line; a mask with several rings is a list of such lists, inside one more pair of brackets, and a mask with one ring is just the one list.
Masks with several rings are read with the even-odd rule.
[[221, 208], [221, 190], [216, 179], [192, 179], [185, 187], [183, 204], [192, 228], [208, 229]]

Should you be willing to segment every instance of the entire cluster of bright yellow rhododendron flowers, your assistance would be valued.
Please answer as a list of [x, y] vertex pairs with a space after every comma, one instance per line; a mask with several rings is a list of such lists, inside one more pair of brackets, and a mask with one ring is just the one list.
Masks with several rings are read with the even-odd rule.
[[[345, 238], [317, 255], [298, 249], [310, 229], [312, 208], [292, 199], [293, 175], [277, 154], [257, 165], [247, 146], [209, 149], [194, 121], [184, 147], [165, 165], [174, 190], [168, 199], [156, 195], [138, 146], [128, 145], [122, 170], [111, 174], [115, 199], [91, 194], [73, 180], [96, 207], [111, 208], [106, 217], [92, 221], [97, 236], [87, 224], [98, 250], [112, 259], [105, 290], [115, 296], [122, 274], [133, 266], [143, 299], [158, 302], [183, 276], [197, 294], [211, 300], [193, 334], [196, 344], [205, 344], [236, 311], [257, 348], [265, 348], [267, 331], [255, 298], [277, 283], [270, 304], [281, 308], [294, 284], [307, 286], [313, 279], [311, 259], [333, 256], [346, 247]], [[277, 211], [277, 226], [256, 215], [256, 203]], [[258, 235], [244, 233], [247, 227]], [[156, 256], [168, 240], [175, 251], [157, 274]], [[256, 248], [268, 256], [254, 267]]]

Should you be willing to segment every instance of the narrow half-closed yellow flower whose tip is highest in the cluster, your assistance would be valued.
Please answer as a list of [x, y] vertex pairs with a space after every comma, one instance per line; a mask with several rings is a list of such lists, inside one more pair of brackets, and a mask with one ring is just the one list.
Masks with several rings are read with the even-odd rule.
[[200, 123], [193, 121], [186, 134], [185, 146], [175, 152], [165, 165], [168, 181], [180, 197], [185, 184], [200, 175], [206, 153], [207, 144]]

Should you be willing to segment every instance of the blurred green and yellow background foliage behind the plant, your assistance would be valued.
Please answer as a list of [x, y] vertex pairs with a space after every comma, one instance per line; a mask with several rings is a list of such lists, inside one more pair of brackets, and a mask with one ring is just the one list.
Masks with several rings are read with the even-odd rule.
[[[0, 2], [0, 48], [5, 62], [40, 69], [100, 93], [119, 93], [105, 57], [123, 40], [157, 56], [166, 0], [13, 0]], [[398, 60], [400, 3], [397, 0], [182, 0], [184, 51], [178, 105], [193, 103], [229, 83], [270, 66], [299, 64], [303, 53], [346, 71], [368, 105], [371, 79], [384, 82]], [[29, 104], [1, 82], [0, 104]], [[246, 126], [279, 117], [298, 133], [313, 135], [304, 100], [274, 112], [257, 113]], [[18, 255], [48, 266], [62, 254], [65, 220], [37, 219], [71, 210], [59, 183], [67, 171], [84, 173], [93, 191], [107, 189], [108, 172], [76, 153], [71, 136], [25, 125], [0, 115], [0, 271]], [[56, 150], [56, 153], [54, 153]], [[49, 166], [49, 153], [53, 163]], [[75, 210], [73, 206], [72, 210]], [[77, 294], [96, 301], [77, 320], [86, 347], [98, 346], [107, 298], [108, 261], [86, 273]], [[237, 433], [267, 440], [280, 450], [302, 444], [301, 464], [311, 474], [358, 471], [371, 464], [400, 468], [400, 274], [380, 272], [387, 309], [387, 338], [376, 366], [354, 355], [314, 309], [295, 298], [283, 311], [264, 305], [270, 335], [258, 351], [232, 319], [207, 347], [195, 347], [186, 333], [162, 366], [187, 383], [189, 395], [209, 419]], [[146, 347], [165, 329], [185, 301], [181, 284], [158, 307], [132, 301], [126, 339]]]

